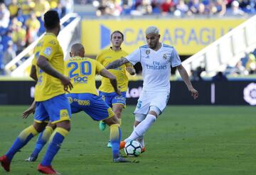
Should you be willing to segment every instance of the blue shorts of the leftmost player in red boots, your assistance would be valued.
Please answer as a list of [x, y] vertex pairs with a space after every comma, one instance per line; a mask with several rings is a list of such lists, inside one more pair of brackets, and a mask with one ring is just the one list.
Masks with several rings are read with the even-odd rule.
[[46, 101], [36, 102], [34, 120], [37, 123], [48, 122], [58, 123], [63, 120], [70, 120], [71, 109], [68, 98], [61, 94]]

